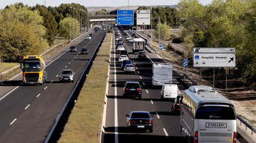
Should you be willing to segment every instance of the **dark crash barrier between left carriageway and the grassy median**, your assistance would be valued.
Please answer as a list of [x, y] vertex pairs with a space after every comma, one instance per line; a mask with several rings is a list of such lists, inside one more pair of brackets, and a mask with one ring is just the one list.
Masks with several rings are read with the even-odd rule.
[[94, 50], [94, 54], [92, 55], [89, 63], [87, 64], [86, 68], [83, 70], [83, 73], [80, 75], [78, 82], [75, 84], [75, 88], [70, 93], [67, 102], [64, 104], [64, 107], [61, 109], [59, 116], [57, 117], [53, 127], [50, 129], [48, 136], [46, 137], [44, 143], [48, 142], [57, 142], [59, 137], [61, 136], [61, 132], [64, 130], [64, 125], [67, 123], [68, 117], [75, 106], [75, 101], [77, 100], [80, 90], [83, 88], [83, 82], [86, 81], [86, 74], [89, 74], [91, 66], [94, 62], [94, 59], [99, 52], [99, 47], [101, 47], [102, 42], [106, 35], [102, 37], [101, 42], [97, 45], [97, 48]]

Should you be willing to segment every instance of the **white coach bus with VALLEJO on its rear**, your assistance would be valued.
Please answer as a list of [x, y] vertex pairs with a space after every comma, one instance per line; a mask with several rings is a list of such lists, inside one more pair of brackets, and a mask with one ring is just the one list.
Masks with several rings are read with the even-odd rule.
[[180, 131], [187, 142], [236, 143], [235, 106], [214, 88], [191, 86], [181, 101]]

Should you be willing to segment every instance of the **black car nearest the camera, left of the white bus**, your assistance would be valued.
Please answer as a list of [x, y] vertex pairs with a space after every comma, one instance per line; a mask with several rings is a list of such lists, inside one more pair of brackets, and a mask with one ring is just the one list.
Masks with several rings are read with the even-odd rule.
[[147, 111], [132, 111], [127, 115], [127, 131], [131, 129], [144, 129], [153, 132], [153, 115]]

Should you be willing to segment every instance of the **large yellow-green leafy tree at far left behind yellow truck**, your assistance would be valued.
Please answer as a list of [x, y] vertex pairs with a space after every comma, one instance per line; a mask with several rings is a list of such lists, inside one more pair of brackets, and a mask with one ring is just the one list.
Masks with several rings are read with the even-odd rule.
[[11, 5], [0, 11], [0, 53], [3, 61], [19, 61], [23, 55], [48, 49], [46, 28], [37, 10]]

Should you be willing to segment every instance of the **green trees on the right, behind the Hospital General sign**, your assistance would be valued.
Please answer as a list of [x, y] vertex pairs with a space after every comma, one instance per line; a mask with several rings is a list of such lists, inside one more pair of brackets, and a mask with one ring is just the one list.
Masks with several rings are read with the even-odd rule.
[[216, 0], [204, 7], [197, 0], [181, 0], [178, 9], [189, 51], [192, 47], [236, 47], [235, 75], [255, 87], [256, 1]]

